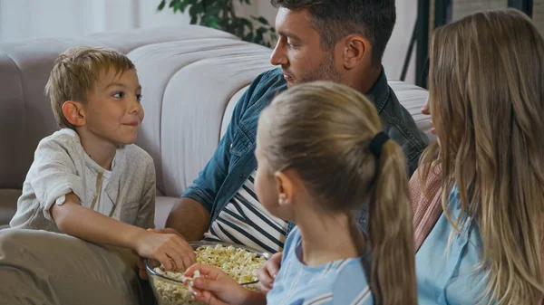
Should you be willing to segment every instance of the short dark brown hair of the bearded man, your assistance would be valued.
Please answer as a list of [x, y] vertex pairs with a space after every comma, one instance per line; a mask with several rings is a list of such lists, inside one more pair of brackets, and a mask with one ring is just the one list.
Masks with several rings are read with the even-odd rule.
[[307, 9], [325, 50], [349, 34], [363, 35], [372, 43], [374, 64], [382, 62], [396, 21], [394, 0], [272, 0], [272, 5]]

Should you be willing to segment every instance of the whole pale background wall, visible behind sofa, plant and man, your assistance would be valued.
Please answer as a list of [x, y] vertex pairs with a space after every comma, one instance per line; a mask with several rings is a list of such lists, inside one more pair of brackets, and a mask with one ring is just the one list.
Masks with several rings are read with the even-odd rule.
[[[417, 0], [396, 2], [397, 24], [384, 55], [385, 71], [391, 79], [401, 75], [417, 10]], [[160, 0], [0, 0], [0, 42], [189, 24], [187, 14], [173, 14], [168, 8], [157, 12], [159, 3]], [[235, 3], [239, 14], [263, 15], [275, 23], [277, 9], [268, 0], [254, 0], [254, 5], [249, 6]], [[413, 60], [406, 81], [415, 80], [414, 71]]]

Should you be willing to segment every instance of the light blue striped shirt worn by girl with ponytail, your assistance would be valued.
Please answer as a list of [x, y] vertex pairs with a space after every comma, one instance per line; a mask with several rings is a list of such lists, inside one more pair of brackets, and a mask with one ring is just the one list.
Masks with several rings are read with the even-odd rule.
[[302, 257], [300, 230], [287, 236], [281, 268], [267, 304], [275, 305], [372, 305], [374, 300], [361, 258], [308, 267]]

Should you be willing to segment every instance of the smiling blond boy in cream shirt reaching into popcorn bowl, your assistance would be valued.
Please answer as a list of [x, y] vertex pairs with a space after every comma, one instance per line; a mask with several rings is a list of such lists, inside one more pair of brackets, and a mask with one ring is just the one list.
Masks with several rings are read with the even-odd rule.
[[[61, 129], [38, 144], [10, 226], [49, 233], [13, 229], [3, 232], [0, 242], [6, 234], [19, 234], [21, 242], [15, 245], [17, 249], [4, 245], [3, 249], [8, 250], [0, 253], [0, 276], [12, 279], [12, 283], [24, 281], [20, 280], [24, 279], [24, 270], [13, 272], [17, 251], [32, 254], [35, 247], [36, 253], [43, 253], [39, 248], [46, 246], [43, 241], [49, 241], [53, 247], [63, 247], [66, 249], [62, 251], [87, 258], [83, 262], [86, 265], [82, 265], [84, 280], [78, 282], [77, 271], [65, 273], [70, 270], [69, 266], [64, 270], [57, 268], [61, 273], [55, 270], [51, 274], [50, 270], [41, 269], [38, 259], [32, 268], [27, 262], [21, 268], [33, 269], [35, 276], [33, 286], [26, 289], [40, 290], [34, 291], [34, 298], [43, 292], [44, 296], [53, 295], [52, 300], [59, 303], [83, 304], [83, 300], [73, 298], [78, 295], [75, 291], [88, 285], [86, 289], [90, 293], [112, 294], [108, 302], [112, 299], [120, 303], [133, 302], [135, 299], [128, 296], [132, 293], [128, 287], [135, 273], [124, 278], [122, 273], [126, 273], [127, 268], [135, 268], [135, 260], [127, 255], [130, 251], [120, 249], [157, 259], [169, 269], [182, 266], [184, 262], [179, 253], [186, 252], [186, 243], [182, 243], [180, 236], [146, 230], [153, 228], [155, 169], [150, 155], [132, 144], [144, 117], [141, 85], [134, 65], [119, 52], [76, 47], [55, 60], [45, 91]], [[66, 239], [62, 234], [105, 247]], [[35, 238], [37, 235], [39, 239]], [[111, 256], [111, 253], [121, 254]], [[64, 254], [56, 256], [60, 258]], [[120, 264], [124, 269], [115, 272]], [[11, 269], [3, 268], [5, 265]], [[102, 268], [104, 271], [96, 272]], [[92, 272], [96, 273], [89, 276]], [[106, 272], [111, 274], [106, 276]], [[118, 282], [113, 282], [111, 279], [117, 274]], [[112, 282], [103, 282], [106, 278]], [[116, 285], [120, 285], [118, 290], [123, 295], [107, 291]], [[64, 291], [68, 287], [73, 288], [73, 295], [70, 289]], [[18, 293], [31, 291], [0, 291], [0, 299], [15, 302], [21, 297]], [[70, 296], [63, 300], [67, 293]]]

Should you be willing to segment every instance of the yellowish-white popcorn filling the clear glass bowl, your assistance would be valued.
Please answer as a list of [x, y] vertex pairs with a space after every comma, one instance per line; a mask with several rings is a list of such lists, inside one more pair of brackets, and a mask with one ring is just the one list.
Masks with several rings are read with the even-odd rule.
[[[256, 253], [233, 246], [225, 247], [221, 244], [200, 246], [195, 250], [195, 255], [197, 262], [218, 267], [235, 281], [238, 281], [238, 283], [257, 281], [257, 270], [267, 262], [265, 257], [259, 256]], [[170, 279], [178, 281], [189, 280], [190, 286], [192, 286], [195, 279], [201, 276], [197, 270], [193, 273], [192, 278], [184, 277], [183, 273], [167, 271], [163, 266], [155, 268], [154, 271]], [[189, 288], [183, 284], [155, 278], [154, 285], [160, 296], [160, 305], [202, 304], [191, 299]]]

